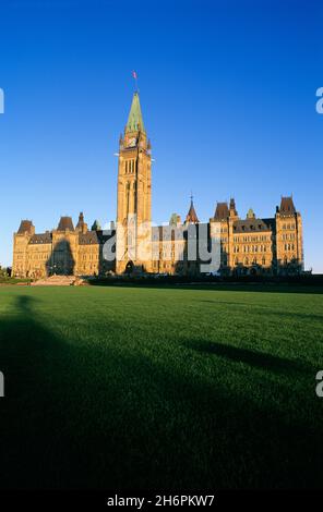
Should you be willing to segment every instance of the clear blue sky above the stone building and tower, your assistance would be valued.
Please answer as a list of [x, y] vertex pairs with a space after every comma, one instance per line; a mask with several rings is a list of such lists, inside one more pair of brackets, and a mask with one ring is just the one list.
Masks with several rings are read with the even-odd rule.
[[2, 0], [0, 264], [22, 218], [116, 217], [119, 134], [139, 74], [153, 218], [294, 195], [306, 266], [323, 272], [323, 8], [319, 1]]

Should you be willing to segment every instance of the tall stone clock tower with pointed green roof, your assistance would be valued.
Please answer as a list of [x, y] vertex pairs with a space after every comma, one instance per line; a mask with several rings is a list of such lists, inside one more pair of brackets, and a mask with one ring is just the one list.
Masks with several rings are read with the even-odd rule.
[[119, 142], [117, 273], [149, 271], [152, 261], [152, 157], [137, 92]]

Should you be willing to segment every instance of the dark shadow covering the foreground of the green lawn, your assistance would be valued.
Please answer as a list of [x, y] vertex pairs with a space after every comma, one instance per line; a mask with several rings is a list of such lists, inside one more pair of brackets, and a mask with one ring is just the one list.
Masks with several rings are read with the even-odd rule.
[[[1, 488], [322, 485], [321, 425], [315, 414], [311, 425], [292, 410], [282, 414], [288, 397], [277, 407], [264, 394], [260, 406], [250, 392], [196, 376], [184, 349], [178, 367], [167, 352], [153, 361], [125, 342], [61, 339], [36, 318], [37, 302], [22, 295], [16, 315], [0, 322]], [[120, 340], [122, 326], [110, 325]], [[226, 348], [225, 356], [237, 361], [241, 353]], [[261, 367], [280, 364], [242, 357]]]

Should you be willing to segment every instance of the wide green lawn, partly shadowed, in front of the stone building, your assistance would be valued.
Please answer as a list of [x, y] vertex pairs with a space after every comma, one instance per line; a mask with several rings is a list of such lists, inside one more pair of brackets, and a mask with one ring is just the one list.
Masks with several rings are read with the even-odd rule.
[[264, 290], [0, 288], [0, 487], [323, 487], [323, 295]]

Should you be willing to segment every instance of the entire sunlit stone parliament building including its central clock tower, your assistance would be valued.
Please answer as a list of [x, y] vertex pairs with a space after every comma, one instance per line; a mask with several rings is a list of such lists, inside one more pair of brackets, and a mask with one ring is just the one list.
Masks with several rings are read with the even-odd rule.
[[[151, 151], [134, 93], [119, 141], [116, 227], [103, 230], [95, 221], [88, 229], [81, 212], [75, 227], [71, 217], [61, 217], [57, 229], [36, 234], [33, 222], [22, 220], [13, 235], [13, 276], [295, 275], [303, 270], [302, 221], [292, 197], [282, 197], [275, 216], [265, 219], [252, 209], [241, 219], [231, 198], [229, 204], [217, 203], [208, 222], [200, 222], [191, 198], [183, 222], [172, 214], [168, 225], [152, 225]], [[208, 268], [213, 247], [216, 265]]]

